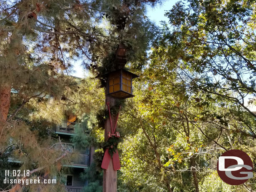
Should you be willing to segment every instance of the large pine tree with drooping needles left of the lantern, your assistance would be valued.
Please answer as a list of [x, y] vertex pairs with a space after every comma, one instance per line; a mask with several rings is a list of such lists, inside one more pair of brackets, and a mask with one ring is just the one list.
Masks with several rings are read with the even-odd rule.
[[[72, 61], [83, 59], [84, 66], [102, 78], [103, 73], [119, 67], [112, 61], [116, 48], [123, 43], [131, 66], [140, 68], [153, 31], [144, 16], [145, 6], [156, 2], [1, 0], [1, 153], [11, 140], [18, 147], [12, 156], [22, 162], [22, 169], [30, 169], [31, 174], [58, 172], [58, 162], [68, 154], [53, 150], [51, 123], [59, 121], [67, 109], [82, 115], [93, 111], [89, 104], [95, 104], [76, 94], [91, 96], [92, 92], [88, 84], [78, 91], [81, 82], [69, 76]], [[49, 101], [52, 98], [54, 104]], [[17, 184], [12, 190], [22, 188]]]

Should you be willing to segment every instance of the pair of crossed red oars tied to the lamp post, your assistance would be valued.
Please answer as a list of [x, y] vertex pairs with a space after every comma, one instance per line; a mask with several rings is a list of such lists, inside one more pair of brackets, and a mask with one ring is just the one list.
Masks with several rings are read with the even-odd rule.
[[[110, 114], [110, 103], [109, 102], [107, 102], [107, 107], [108, 107], [108, 112], [109, 112], [109, 115], [110, 115], [110, 127], [111, 127], [111, 132], [107, 133], [107, 138], [111, 138], [112, 136], [120, 138], [120, 133], [119, 132], [115, 132], [115, 129], [116, 129], [116, 126], [117, 126], [118, 116], [119, 116], [119, 112], [120, 112], [121, 106], [120, 106], [119, 111], [118, 111], [118, 116], [117, 116], [117, 118], [115, 120], [115, 127], [114, 127], [114, 129], [112, 127], [112, 119], [111, 119], [111, 114]], [[109, 149], [107, 148], [105, 153], [104, 153], [104, 157], [103, 157], [102, 164], [101, 164], [101, 168], [102, 169], [107, 169], [108, 165], [110, 163], [111, 156], [110, 156], [110, 153], [108, 151], [109, 151]], [[118, 150], [115, 150], [115, 153], [113, 154], [112, 159], [113, 159], [114, 170], [116, 171], [116, 170], [120, 169], [121, 166], [120, 166]]]

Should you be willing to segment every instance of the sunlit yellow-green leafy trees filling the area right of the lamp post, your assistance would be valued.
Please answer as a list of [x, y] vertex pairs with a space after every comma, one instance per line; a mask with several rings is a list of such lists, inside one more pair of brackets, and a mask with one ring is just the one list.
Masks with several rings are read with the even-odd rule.
[[[165, 13], [122, 118], [120, 191], [254, 191], [216, 171], [230, 149], [255, 165], [255, 1], [180, 1]], [[251, 98], [251, 99], [250, 99]]]

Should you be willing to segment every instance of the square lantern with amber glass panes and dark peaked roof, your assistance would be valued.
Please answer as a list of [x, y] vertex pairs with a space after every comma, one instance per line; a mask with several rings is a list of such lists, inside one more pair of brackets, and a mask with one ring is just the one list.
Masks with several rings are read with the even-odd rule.
[[133, 97], [132, 80], [138, 75], [127, 70], [120, 69], [107, 73], [107, 95], [126, 99]]

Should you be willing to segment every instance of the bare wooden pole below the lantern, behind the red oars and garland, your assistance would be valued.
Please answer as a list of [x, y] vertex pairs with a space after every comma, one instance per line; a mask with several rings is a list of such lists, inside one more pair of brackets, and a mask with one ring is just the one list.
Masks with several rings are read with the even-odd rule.
[[[110, 102], [110, 107], [115, 105], [115, 99], [107, 96], [106, 94], [106, 111], [107, 102]], [[112, 125], [115, 125], [115, 117], [112, 117]], [[107, 141], [107, 132], [111, 132], [110, 118], [108, 117], [104, 124], [105, 134], [104, 140]], [[103, 173], [103, 192], [116, 192], [117, 191], [117, 171], [114, 170], [113, 161], [110, 161], [107, 169]]]

